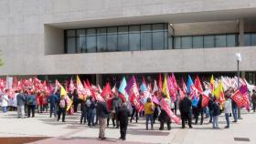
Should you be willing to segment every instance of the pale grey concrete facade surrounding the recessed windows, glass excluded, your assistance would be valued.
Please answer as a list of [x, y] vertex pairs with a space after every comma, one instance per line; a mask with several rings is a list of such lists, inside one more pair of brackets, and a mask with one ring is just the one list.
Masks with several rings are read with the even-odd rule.
[[[255, 71], [255, 46], [62, 54], [64, 29], [215, 21], [208, 26], [239, 32], [238, 20], [255, 12], [254, 0], [0, 0], [0, 75], [227, 72], [236, 71], [237, 52], [240, 69]], [[185, 27], [187, 32], [177, 32], [196, 33]], [[253, 24], [245, 26], [251, 29]]]

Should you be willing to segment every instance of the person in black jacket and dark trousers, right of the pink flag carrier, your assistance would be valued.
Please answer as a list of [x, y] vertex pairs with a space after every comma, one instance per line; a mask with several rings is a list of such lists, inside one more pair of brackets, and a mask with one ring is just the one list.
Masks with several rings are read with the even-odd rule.
[[185, 129], [185, 120], [188, 120], [188, 126], [191, 129], [191, 107], [192, 102], [187, 96], [179, 103], [179, 111], [182, 119], [182, 129]]

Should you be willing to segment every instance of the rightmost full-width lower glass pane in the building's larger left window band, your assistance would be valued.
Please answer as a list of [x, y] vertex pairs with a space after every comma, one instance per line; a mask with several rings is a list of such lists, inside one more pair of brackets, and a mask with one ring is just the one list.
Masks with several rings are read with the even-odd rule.
[[155, 32], [152, 33], [152, 39], [153, 39], [153, 49], [164, 49], [165, 45], [165, 38], [164, 38], [164, 32]]

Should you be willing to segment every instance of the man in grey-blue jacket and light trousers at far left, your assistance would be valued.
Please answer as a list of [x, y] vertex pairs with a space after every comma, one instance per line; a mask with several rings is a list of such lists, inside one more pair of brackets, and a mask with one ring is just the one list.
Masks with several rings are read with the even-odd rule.
[[16, 96], [17, 102], [17, 118], [25, 118], [25, 103], [26, 97], [24, 96], [23, 92], [20, 91]]

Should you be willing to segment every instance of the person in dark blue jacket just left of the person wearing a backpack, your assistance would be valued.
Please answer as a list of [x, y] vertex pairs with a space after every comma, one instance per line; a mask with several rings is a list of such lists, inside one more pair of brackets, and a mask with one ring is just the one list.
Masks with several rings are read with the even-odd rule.
[[57, 117], [57, 108], [58, 108], [59, 98], [52, 92], [48, 97], [49, 103], [49, 118], [51, 118], [52, 113], [54, 117]]

